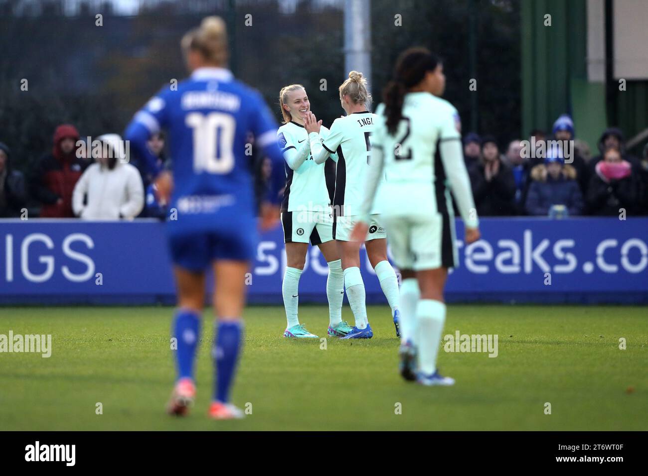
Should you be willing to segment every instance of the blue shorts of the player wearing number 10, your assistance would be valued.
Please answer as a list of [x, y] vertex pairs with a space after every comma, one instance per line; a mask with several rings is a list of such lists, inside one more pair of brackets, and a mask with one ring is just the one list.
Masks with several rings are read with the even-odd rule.
[[215, 260], [253, 260], [257, 253], [257, 230], [230, 228], [172, 234], [168, 242], [173, 264], [198, 273]]

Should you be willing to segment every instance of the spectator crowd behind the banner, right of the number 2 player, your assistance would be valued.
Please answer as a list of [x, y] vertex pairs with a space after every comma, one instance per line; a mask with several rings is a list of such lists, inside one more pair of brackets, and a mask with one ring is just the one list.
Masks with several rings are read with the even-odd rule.
[[478, 214], [648, 215], [648, 144], [641, 158], [634, 157], [625, 150], [623, 132], [608, 128], [597, 149], [591, 157], [587, 144], [575, 139], [566, 114], [555, 121], [550, 136], [533, 130], [526, 141], [509, 142], [505, 153], [491, 135], [465, 135], [463, 153]]

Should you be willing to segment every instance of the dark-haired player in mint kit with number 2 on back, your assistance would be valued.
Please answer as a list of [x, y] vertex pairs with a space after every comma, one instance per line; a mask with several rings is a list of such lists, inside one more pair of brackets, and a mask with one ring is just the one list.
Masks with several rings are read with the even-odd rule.
[[446, 314], [443, 288], [448, 268], [457, 262], [450, 192], [466, 226], [466, 243], [480, 238], [461, 123], [457, 110], [441, 99], [444, 89], [443, 65], [429, 51], [417, 48], [400, 55], [384, 104], [376, 110], [362, 218], [352, 234], [364, 239], [378, 181], [386, 172], [382, 217], [402, 273], [400, 373], [422, 385], [454, 383], [436, 365]]

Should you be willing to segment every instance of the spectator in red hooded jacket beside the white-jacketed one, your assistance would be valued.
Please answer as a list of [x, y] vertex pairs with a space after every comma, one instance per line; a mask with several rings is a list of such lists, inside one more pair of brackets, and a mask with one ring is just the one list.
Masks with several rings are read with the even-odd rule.
[[43, 218], [74, 218], [72, 192], [84, 172], [86, 161], [76, 151], [79, 133], [75, 126], [62, 124], [54, 131], [52, 153], [43, 155], [30, 177], [32, 195], [41, 202]]

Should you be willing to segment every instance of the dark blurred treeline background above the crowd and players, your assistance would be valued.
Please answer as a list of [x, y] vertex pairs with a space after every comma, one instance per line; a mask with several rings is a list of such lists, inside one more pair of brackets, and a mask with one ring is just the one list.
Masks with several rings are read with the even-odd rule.
[[[142, 4], [136, 16], [123, 16], [110, 3], [92, 0], [0, 0], [0, 141], [12, 149], [16, 168], [27, 170], [51, 148], [58, 124], [74, 124], [83, 137], [121, 133], [160, 87], [187, 76], [179, 40], [211, 14], [234, 25], [233, 69], [262, 92], [277, 120], [279, 89], [292, 83], [305, 85], [324, 124], [343, 113], [343, 1], [295, 0], [287, 9], [277, 0]], [[468, 131], [469, 8], [476, 9], [477, 19], [478, 131], [493, 133], [504, 146], [520, 134], [516, 1], [371, 1], [371, 87], [380, 102], [399, 52], [426, 46], [445, 60], [445, 98], [459, 109]], [[97, 14], [103, 16], [101, 27], [95, 25]], [[245, 25], [248, 14], [251, 26]], [[395, 26], [396, 14], [402, 26]], [[27, 91], [21, 91], [23, 79]], [[320, 90], [322, 79], [326, 91]]]

